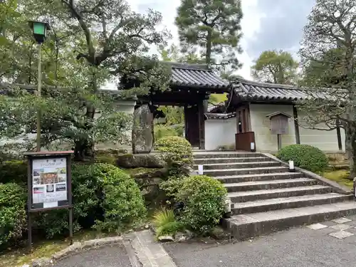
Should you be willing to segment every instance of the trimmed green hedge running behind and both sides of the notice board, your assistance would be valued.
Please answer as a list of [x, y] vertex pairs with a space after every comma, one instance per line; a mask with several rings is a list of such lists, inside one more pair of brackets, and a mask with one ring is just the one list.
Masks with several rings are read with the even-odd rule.
[[[21, 177], [26, 177], [27, 169], [4, 169], [26, 163], [4, 163], [0, 177], [4, 179], [6, 174], [6, 180], [18, 184], [0, 184], [0, 245], [21, 239], [22, 230], [26, 229], [26, 187]], [[73, 164], [72, 189], [74, 232], [91, 227], [117, 231], [145, 218], [145, 202], [135, 180], [112, 164]], [[68, 210], [34, 216], [38, 234], [48, 239], [68, 235]]]

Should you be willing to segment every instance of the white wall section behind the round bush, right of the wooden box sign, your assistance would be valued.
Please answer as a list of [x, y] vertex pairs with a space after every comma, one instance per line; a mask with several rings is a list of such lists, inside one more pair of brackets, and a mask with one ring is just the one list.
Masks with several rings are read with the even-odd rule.
[[[312, 130], [308, 128], [308, 124], [303, 120], [303, 117], [305, 117], [305, 113], [298, 112], [300, 144], [313, 145], [324, 152], [340, 151], [337, 144], [336, 130], [328, 130], [330, 128], [325, 124], [316, 125], [316, 127], [325, 130]], [[345, 151], [345, 130], [340, 129], [340, 132], [342, 150]]]

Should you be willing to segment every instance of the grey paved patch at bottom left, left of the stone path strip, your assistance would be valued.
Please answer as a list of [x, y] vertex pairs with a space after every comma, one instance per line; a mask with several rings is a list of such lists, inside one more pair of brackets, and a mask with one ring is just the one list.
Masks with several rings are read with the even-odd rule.
[[53, 267], [130, 267], [130, 258], [122, 245], [82, 251], [58, 261]]

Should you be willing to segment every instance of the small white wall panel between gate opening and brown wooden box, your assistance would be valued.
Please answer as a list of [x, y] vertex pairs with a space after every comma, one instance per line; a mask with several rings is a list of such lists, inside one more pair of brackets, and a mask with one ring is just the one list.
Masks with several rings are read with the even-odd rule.
[[234, 145], [236, 117], [205, 121], [205, 149], [215, 150], [221, 145]]

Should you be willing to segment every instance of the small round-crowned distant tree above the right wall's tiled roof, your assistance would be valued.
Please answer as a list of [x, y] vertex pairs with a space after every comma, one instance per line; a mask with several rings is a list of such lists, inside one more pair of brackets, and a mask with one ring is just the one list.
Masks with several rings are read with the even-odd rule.
[[251, 67], [253, 78], [265, 83], [293, 84], [298, 62], [286, 51], [263, 51]]

